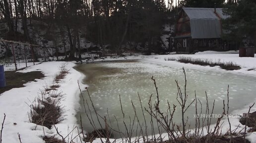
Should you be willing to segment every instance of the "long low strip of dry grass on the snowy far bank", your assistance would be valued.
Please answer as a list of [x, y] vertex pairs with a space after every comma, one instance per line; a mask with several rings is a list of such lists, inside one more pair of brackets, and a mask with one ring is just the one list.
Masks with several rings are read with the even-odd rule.
[[210, 67], [220, 66], [220, 68], [222, 68], [224, 70], [228, 70], [228, 71], [241, 69], [240, 66], [236, 65], [233, 62], [221, 63], [220, 59], [218, 61], [213, 62], [212, 60], [209, 60], [209, 59], [180, 56], [180, 57], [165, 58], [165, 61], [178, 61], [178, 62], [185, 63], [185, 64], [190, 63], [190, 64], [194, 64], [194, 65], [210, 66]]

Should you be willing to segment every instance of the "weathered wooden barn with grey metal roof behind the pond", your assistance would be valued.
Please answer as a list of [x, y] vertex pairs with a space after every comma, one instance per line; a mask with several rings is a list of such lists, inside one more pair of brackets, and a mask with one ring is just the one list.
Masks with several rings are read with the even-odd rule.
[[221, 39], [221, 19], [227, 18], [222, 8], [183, 7], [175, 31], [177, 52], [230, 50]]

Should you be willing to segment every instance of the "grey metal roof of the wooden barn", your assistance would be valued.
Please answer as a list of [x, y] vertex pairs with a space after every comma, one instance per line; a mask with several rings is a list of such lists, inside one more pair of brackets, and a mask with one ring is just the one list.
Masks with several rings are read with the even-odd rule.
[[222, 8], [192, 8], [183, 7], [190, 18], [192, 38], [220, 38], [222, 33], [221, 19], [228, 16], [223, 14]]

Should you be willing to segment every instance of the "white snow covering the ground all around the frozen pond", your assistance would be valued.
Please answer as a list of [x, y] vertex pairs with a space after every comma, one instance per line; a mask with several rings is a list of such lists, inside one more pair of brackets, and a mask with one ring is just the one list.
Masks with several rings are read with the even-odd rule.
[[[136, 55], [136, 56], [127, 56], [127, 57], [116, 57], [116, 58], [105, 58], [97, 59], [95, 61], [108, 61], [108, 60], [127, 60], [127, 59], [138, 59], [143, 62], [160, 64], [163, 66], [175, 66], [175, 67], [185, 67], [185, 68], [192, 68], [192, 69], [203, 69], [203, 70], [222, 70], [219, 67], [209, 67], [209, 66], [198, 66], [192, 64], [184, 64], [179, 63], [176, 61], [165, 61], [164, 58], [168, 57], [179, 57], [179, 56], [186, 56], [192, 58], [205, 58], [211, 59], [213, 61], [218, 61], [219, 59], [221, 62], [234, 62], [237, 65], [241, 66], [241, 70], [235, 71], [225, 71], [223, 72], [232, 72], [236, 74], [246, 74], [250, 76], [256, 76], [256, 58], [250, 57], [243, 57], [240, 58], [238, 54], [230, 54], [236, 51], [231, 51], [229, 53], [216, 53], [211, 51], [200, 52], [195, 55], [150, 55], [150, 56], [143, 56], [143, 55]], [[256, 55], [255, 55], [256, 56]], [[50, 85], [53, 83], [53, 78], [55, 73], [59, 72], [59, 67], [65, 62], [45, 62], [35, 66], [30, 66], [25, 70], [19, 72], [31, 72], [31, 71], [42, 71], [45, 74], [44, 79], [37, 79], [37, 81], [32, 81], [25, 84], [25, 87], [21, 88], [13, 88], [9, 91], [6, 91], [0, 95], [0, 122], [3, 120], [3, 113], [6, 114], [6, 119], [3, 125], [2, 131], [2, 143], [19, 143], [18, 135], [20, 134], [22, 143], [44, 143], [44, 141], [40, 138], [44, 135], [55, 135], [56, 130], [53, 128], [51, 130], [42, 128], [41, 126], [37, 126], [34, 123], [30, 123], [28, 118], [28, 112], [30, 110], [30, 102], [33, 102], [34, 99], [39, 96], [40, 89], [43, 86]], [[5, 67], [7, 69], [13, 69], [13, 65], [8, 65], [9, 67]], [[72, 67], [75, 64], [72, 62], [67, 62], [67, 68], [70, 69], [70, 73], [66, 75], [66, 77], [59, 83], [61, 85], [60, 90], [63, 91], [64, 101], [62, 101], [62, 105], [64, 105], [64, 121], [60, 122], [56, 127], [61, 134], [65, 137], [73, 127], [77, 126], [75, 112], [79, 108], [79, 89], [77, 85], [77, 81], [80, 81], [84, 78], [84, 75], [80, 72], [77, 72]], [[250, 70], [250, 71], [248, 71]], [[82, 85], [81, 88], [84, 89], [86, 85]], [[252, 103], [255, 101], [252, 101]], [[248, 112], [249, 106], [252, 103], [248, 103], [244, 109], [239, 109], [234, 111], [234, 114], [242, 114]], [[256, 111], [256, 107], [253, 107], [251, 111]], [[224, 120], [225, 123], [223, 124], [223, 130], [227, 130], [229, 128], [227, 124], [227, 120]], [[16, 124], [14, 124], [16, 123]], [[232, 128], [237, 128], [240, 124], [238, 118], [231, 118]], [[214, 125], [212, 125], [214, 126]], [[241, 125], [240, 125], [241, 126]], [[241, 126], [243, 127], [243, 126]], [[36, 128], [36, 129], [35, 129]], [[35, 130], [34, 130], [35, 129]], [[74, 130], [72, 136], [77, 135], [77, 130]], [[71, 136], [71, 135], [70, 135]], [[70, 137], [71, 138], [71, 137]], [[70, 139], [69, 138], [69, 139]], [[68, 138], [67, 138], [68, 139]], [[66, 139], [66, 140], [67, 140]], [[251, 143], [256, 143], [254, 139], [256, 139], [256, 133], [250, 133], [247, 137], [251, 141]], [[75, 140], [76, 142], [76, 140]], [[77, 143], [79, 143], [78, 141]], [[100, 142], [100, 140], [95, 140], [95, 142]]]

